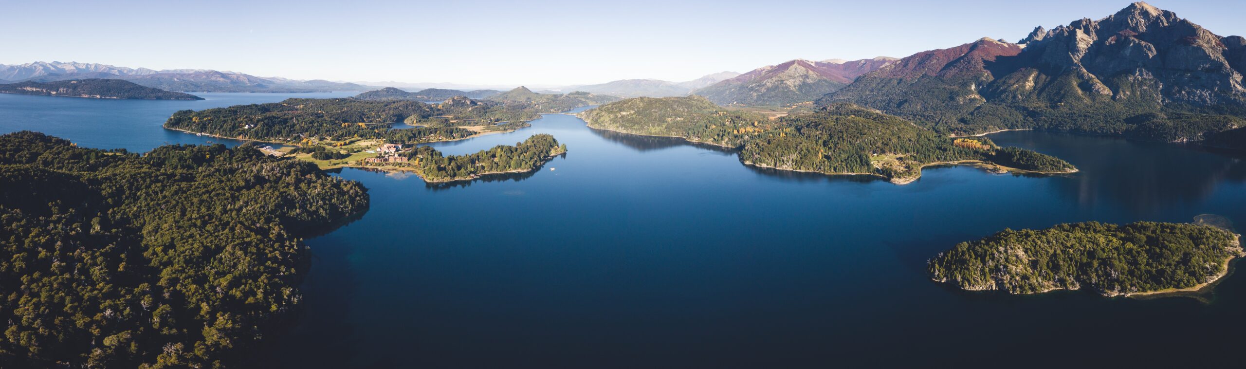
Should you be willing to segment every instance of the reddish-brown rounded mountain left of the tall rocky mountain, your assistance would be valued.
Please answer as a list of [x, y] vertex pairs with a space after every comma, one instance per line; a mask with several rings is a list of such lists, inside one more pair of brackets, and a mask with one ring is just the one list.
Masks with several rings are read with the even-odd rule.
[[764, 66], [692, 93], [705, 96], [719, 105], [766, 106], [806, 102], [842, 89], [857, 76], [893, 61], [891, 57], [845, 62], [792, 60]]

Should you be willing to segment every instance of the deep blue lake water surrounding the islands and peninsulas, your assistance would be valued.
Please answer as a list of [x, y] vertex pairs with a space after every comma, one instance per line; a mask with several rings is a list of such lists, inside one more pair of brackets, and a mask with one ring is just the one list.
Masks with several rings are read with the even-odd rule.
[[[159, 128], [176, 110], [290, 96], [217, 95], [201, 93], [209, 98], [201, 107], [0, 95], [0, 128], [150, 150], [202, 138]], [[431, 146], [468, 153], [535, 133], [553, 135], [568, 153], [532, 173], [437, 186], [410, 175], [335, 173], [363, 182], [371, 208], [308, 241], [303, 313], [258, 363], [1240, 367], [1246, 273], [1202, 302], [969, 293], [925, 271], [936, 253], [1003, 228], [1189, 222], [1202, 213], [1246, 224], [1246, 163], [1237, 156], [1002, 132], [991, 138], [1082, 172], [939, 167], [896, 186], [745, 167], [733, 152], [591, 130], [568, 115]]]

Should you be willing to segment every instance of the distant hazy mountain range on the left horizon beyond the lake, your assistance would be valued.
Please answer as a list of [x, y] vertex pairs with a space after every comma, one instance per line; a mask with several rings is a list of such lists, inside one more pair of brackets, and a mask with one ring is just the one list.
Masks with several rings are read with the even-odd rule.
[[0, 65], [0, 79], [9, 81], [65, 81], [85, 79], [126, 80], [168, 91], [197, 92], [330, 92], [366, 91], [374, 87], [325, 80], [299, 81], [282, 77], [213, 70], [150, 70], [83, 62], [31, 62]]

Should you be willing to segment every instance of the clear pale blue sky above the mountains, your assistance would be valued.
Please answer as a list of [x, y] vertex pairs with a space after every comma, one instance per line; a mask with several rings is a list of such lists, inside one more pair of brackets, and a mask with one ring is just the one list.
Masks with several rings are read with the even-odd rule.
[[[1246, 1], [1149, 1], [1221, 36]], [[0, 64], [98, 62], [333, 81], [553, 87], [687, 81], [791, 59], [903, 57], [1129, 1], [0, 0]]]

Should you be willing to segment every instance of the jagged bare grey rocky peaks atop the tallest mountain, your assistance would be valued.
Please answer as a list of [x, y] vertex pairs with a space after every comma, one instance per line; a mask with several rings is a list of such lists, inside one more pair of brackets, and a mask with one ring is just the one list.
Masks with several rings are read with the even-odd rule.
[[1025, 66], [1048, 75], [1072, 72], [1085, 92], [1116, 100], [1240, 103], [1246, 89], [1230, 59], [1240, 61], [1242, 49], [1230, 49], [1225, 39], [1171, 11], [1135, 2], [1098, 21], [1083, 19], [1048, 31], [1028, 44]]

